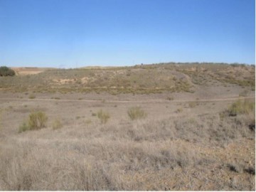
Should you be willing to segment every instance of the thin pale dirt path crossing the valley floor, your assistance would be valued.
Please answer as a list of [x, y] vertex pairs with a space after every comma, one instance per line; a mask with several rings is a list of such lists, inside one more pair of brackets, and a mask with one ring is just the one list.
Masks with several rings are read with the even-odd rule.
[[[227, 101], [227, 100], [238, 100], [238, 99], [252, 99], [255, 97], [230, 97], [221, 99], [209, 99], [209, 100], [106, 100], [105, 102], [215, 102], [215, 101]], [[21, 99], [21, 98], [0, 98], [0, 100], [31, 100], [31, 101], [60, 101], [60, 102], [102, 102], [102, 100], [69, 100], [69, 99]]]

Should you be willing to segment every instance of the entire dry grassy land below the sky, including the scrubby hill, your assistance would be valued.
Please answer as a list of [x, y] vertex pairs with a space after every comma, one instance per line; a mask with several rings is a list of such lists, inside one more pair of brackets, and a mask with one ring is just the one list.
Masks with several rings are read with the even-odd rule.
[[255, 67], [0, 77], [5, 190], [255, 191]]

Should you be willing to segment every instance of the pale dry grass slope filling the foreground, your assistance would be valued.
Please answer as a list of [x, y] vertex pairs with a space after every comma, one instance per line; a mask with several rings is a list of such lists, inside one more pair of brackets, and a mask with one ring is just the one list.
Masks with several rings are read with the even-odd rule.
[[[46, 130], [38, 139], [29, 132], [28, 139], [10, 140], [11, 150], [0, 146], [0, 189], [254, 190], [255, 166], [225, 159], [226, 146], [255, 139], [247, 124], [248, 114], [223, 120], [218, 114], [181, 114], [129, 124], [90, 122], [55, 134]], [[232, 173], [237, 183], [226, 178]]]

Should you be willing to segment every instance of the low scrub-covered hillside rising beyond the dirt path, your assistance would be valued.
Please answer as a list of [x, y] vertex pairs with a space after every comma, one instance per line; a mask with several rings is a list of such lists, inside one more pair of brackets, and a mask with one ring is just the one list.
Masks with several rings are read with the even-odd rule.
[[[11, 79], [1, 78], [0, 87], [9, 88], [15, 92], [27, 92], [28, 90], [61, 93], [97, 92], [98, 94], [108, 92], [112, 95], [193, 93], [195, 92], [193, 85], [213, 83], [218, 85], [223, 83], [227, 86], [233, 84], [255, 89], [255, 68], [253, 66], [241, 67], [223, 63], [185, 64], [188, 63], [159, 63], [119, 68], [52, 69], [33, 76], [16, 75]], [[47, 86], [49, 84], [50, 87]]]

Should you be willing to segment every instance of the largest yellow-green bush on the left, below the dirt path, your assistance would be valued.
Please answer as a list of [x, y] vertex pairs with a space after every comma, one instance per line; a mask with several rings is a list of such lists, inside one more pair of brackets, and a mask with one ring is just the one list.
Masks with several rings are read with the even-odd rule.
[[46, 127], [48, 117], [44, 112], [31, 112], [28, 117], [28, 127], [30, 130]]

